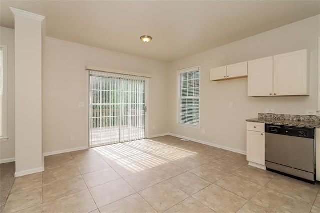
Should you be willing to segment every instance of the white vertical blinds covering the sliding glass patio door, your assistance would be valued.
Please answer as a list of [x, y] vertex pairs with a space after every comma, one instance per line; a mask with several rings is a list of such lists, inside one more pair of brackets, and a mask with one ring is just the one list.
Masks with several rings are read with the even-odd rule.
[[89, 70], [90, 147], [145, 138], [146, 78]]

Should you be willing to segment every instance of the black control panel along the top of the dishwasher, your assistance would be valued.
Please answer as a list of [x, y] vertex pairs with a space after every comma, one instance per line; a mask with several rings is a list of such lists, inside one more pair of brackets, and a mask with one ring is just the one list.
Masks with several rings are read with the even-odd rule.
[[265, 133], [282, 134], [294, 137], [314, 138], [314, 128], [265, 124]]

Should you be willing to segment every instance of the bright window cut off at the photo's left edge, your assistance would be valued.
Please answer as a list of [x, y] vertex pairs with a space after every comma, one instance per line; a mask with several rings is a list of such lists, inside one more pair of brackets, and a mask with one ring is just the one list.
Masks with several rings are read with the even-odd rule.
[[0, 45], [0, 140], [6, 141], [6, 74], [7, 46]]

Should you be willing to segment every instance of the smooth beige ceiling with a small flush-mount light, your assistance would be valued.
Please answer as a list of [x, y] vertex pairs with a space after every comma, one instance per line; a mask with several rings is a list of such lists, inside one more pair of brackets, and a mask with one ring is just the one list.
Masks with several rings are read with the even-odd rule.
[[[8, 28], [14, 28], [9, 7], [45, 16], [47, 36], [161, 61], [320, 13], [319, 0], [0, 0], [0, 24]], [[145, 34], [152, 36], [151, 42], [139, 39]]]

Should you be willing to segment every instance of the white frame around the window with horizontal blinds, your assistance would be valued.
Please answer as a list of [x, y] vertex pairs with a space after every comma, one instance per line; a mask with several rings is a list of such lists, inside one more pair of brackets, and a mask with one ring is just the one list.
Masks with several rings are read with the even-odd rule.
[[[181, 74], [186, 73], [186, 72], [194, 72], [198, 71], [199, 72], [199, 94], [197, 95], [198, 100], [199, 100], [199, 118], [198, 118], [198, 123], [185, 123], [181, 122]], [[181, 126], [186, 126], [186, 127], [191, 127], [191, 128], [200, 128], [200, 87], [201, 87], [201, 75], [200, 75], [200, 65], [198, 66], [193, 66], [185, 69], [180, 69], [177, 70], [176, 78], [177, 78], [177, 113], [176, 113], [176, 123]]]

